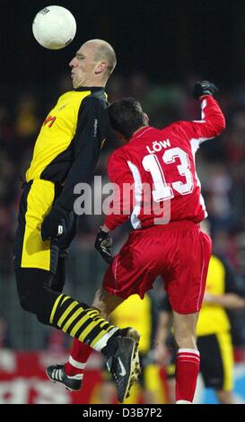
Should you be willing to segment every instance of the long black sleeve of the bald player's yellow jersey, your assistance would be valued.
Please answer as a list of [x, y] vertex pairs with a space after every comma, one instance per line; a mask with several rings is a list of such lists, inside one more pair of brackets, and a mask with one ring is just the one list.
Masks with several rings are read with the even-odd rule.
[[92, 179], [101, 151], [101, 134], [106, 133], [106, 125], [109, 125], [106, 103], [94, 97], [85, 98], [74, 136], [74, 162], [67, 174], [65, 187], [54, 206], [59, 211], [65, 214], [72, 211], [76, 198], [75, 185]]

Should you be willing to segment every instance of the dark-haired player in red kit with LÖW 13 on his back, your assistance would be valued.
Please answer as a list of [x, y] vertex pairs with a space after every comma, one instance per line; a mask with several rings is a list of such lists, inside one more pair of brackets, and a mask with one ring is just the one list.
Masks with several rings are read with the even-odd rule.
[[[199, 372], [196, 325], [211, 239], [199, 228], [206, 209], [195, 154], [202, 142], [218, 136], [225, 127], [223, 113], [213, 98], [215, 92], [214, 84], [197, 83], [193, 95], [200, 101], [202, 119], [179, 121], [162, 130], [148, 125], [148, 118], [135, 99], [115, 101], [109, 107], [111, 126], [125, 145], [109, 157], [109, 180], [118, 189], [95, 248], [110, 264], [93, 306], [108, 317], [129, 295], [143, 298], [154, 279], [162, 276], [179, 346], [177, 403], [192, 402]], [[128, 186], [132, 189], [126, 189], [125, 194]], [[109, 233], [126, 222], [128, 215], [134, 231], [111, 261]], [[74, 341], [64, 367], [67, 374], [83, 374], [90, 353], [88, 347]]]

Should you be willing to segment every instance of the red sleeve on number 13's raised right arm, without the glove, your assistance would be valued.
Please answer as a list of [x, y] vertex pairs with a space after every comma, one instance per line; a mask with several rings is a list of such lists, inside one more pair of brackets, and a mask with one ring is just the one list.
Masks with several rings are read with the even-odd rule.
[[202, 97], [201, 102], [201, 120], [180, 121], [177, 128], [184, 132], [184, 136], [190, 141], [196, 141], [197, 147], [208, 139], [213, 139], [221, 134], [225, 128], [225, 119], [217, 101], [212, 95]]

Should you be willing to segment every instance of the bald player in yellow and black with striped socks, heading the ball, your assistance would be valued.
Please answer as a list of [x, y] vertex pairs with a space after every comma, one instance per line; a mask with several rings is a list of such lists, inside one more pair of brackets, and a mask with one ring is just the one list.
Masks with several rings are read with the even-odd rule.
[[[136, 341], [119, 338], [120, 330], [98, 311], [61, 294], [67, 248], [75, 234], [74, 186], [91, 180], [107, 136], [105, 85], [116, 62], [113, 48], [104, 40], [85, 42], [71, 60], [74, 91], [58, 98], [40, 129], [25, 176], [14, 249], [22, 308], [110, 357], [122, 401], [138, 365]], [[64, 376], [59, 368], [52, 373], [57, 382]]]

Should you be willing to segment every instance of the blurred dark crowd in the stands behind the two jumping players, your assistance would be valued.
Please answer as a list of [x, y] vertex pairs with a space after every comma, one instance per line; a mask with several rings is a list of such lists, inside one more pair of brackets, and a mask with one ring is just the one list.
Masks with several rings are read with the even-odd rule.
[[[191, 92], [197, 75], [182, 84], [153, 84], [147, 75], [113, 75], [108, 84], [109, 101], [125, 96], [142, 102], [150, 124], [163, 127], [173, 120], [199, 119], [200, 109]], [[214, 81], [218, 84], [217, 81]], [[4, 86], [0, 103], [0, 275], [13, 272], [13, 236], [17, 222], [22, 179], [30, 163], [39, 127], [57, 97], [71, 89], [66, 75], [52, 86]], [[227, 128], [197, 153], [197, 172], [212, 227], [214, 252], [223, 255], [244, 277], [245, 283], [245, 85], [224, 89], [217, 99]], [[96, 174], [106, 179], [110, 152], [119, 143], [111, 133], [102, 150]], [[74, 248], [93, 248], [101, 215], [82, 215]], [[126, 233], [119, 230], [118, 238]], [[116, 233], [117, 243], [117, 233]]]

